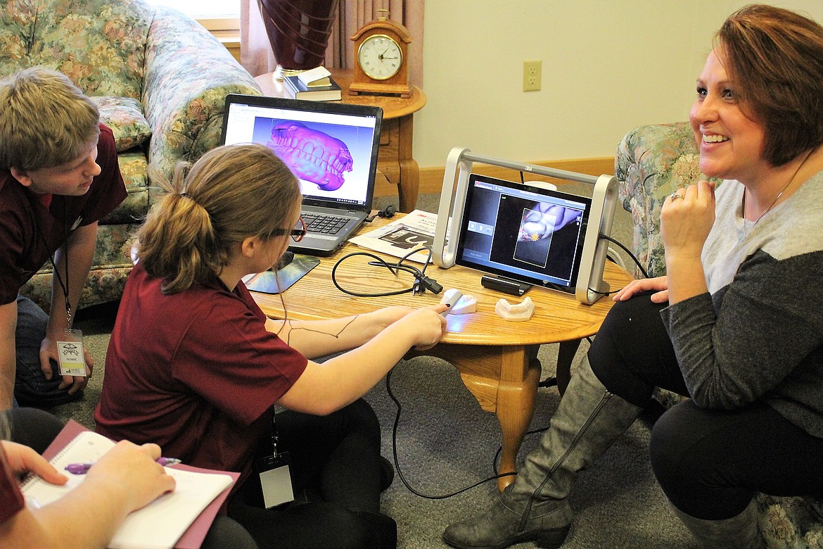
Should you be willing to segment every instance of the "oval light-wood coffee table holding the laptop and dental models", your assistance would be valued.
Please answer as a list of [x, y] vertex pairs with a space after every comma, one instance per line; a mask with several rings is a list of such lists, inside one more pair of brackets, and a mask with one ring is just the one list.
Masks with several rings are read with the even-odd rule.
[[[386, 222], [376, 218], [361, 230], [374, 230]], [[322, 258], [319, 266], [284, 292], [289, 318], [332, 319], [390, 305], [422, 307], [439, 302], [442, 294], [428, 292], [421, 295], [355, 297], [339, 291], [332, 284], [332, 268], [338, 259], [357, 251], [368, 250], [346, 244], [332, 257]], [[384, 257], [387, 261], [397, 261], [397, 258]], [[364, 256], [346, 259], [336, 272], [341, 286], [370, 293], [410, 286], [411, 275], [402, 280], [394, 279], [385, 269], [366, 265], [368, 260]], [[438, 281], [444, 290], [458, 288], [464, 295], [475, 296], [477, 312], [449, 315], [448, 332], [442, 342], [429, 351], [412, 351], [409, 356], [438, 356], [458, 369], [463, 383], [477, 398], [481, 408], [486, 412], [495, 412], [500, 422], [503, 445], [500, 472], [514, 472], [515, 458], [534, 413], [541, 374], [541, 364], [537, 360], [540, 345], [560, 342], [557, 378], [560, 389], [565, 389], [571, 360], [580, 339], [597, 333], [611, 309], [612, 301], [605, 297], [594, 305], [582, 305], [573, 295], [535, 287], [526, 294], [535, 305], [532, 319], [507, 322], [495, 314], [495, 304], [500, 298], [512, 304], [519, 303], [523, 298], [482, 287], [480, 272], [459, 266], [441, 269], [430, 265], [426, 274]], [[628, 272], [611, 262], [607, 262], [604, 278], [612, 290], [625, 286], [631, 280]], [[269, 317], [283, 318], [279, 295], [257, 292], [252, 295]], [[502, 477], [498, 480], [498, 487], [503, 490], [513, 481], [514, 477]]]

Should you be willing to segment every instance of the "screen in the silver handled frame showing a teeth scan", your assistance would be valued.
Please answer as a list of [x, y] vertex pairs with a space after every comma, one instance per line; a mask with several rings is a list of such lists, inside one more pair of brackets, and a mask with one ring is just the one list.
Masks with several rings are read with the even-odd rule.
[[472, 174], [458, 263], [574, 291], [590, 202], [555, 194]]

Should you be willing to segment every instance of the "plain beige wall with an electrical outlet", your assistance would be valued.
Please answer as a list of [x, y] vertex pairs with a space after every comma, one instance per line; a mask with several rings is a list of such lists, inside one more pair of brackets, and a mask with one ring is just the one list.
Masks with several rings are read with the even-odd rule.
[[[414, 156], [614, 156], [640, 124], [686, 120], [714, 31], [739, 0], [427, 0]], [[770, 2], [823, 21], [821, 0]], [[523, 92], [523, 60], [542, 91]]]

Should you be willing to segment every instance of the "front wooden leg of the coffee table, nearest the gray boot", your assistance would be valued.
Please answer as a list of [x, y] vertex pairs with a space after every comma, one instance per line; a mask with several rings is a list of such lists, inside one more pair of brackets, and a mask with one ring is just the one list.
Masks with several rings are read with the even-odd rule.
[[[500, 356], [500, 385], [497, 389], [497, 421], [503, 438], [498, 472], [516, 472], [515, 460], [534, 415], [537, 382], [540, 381], [538, 346], [504, 347]], [[514, 476], [500, 477], [497, 487], [503, 491]]]

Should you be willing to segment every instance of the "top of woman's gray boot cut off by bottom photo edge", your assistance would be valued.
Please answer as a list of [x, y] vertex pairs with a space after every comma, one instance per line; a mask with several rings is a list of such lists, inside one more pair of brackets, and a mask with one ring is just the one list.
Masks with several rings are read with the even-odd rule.
[[707, 549], [765, 549], [766, 544], [757, 529], [757, 503], [751, 500], [736, 517], [725, 520], [704, 520], [684, 513], [672, 505], [674, 513], [689, 528], [691, 537]]

